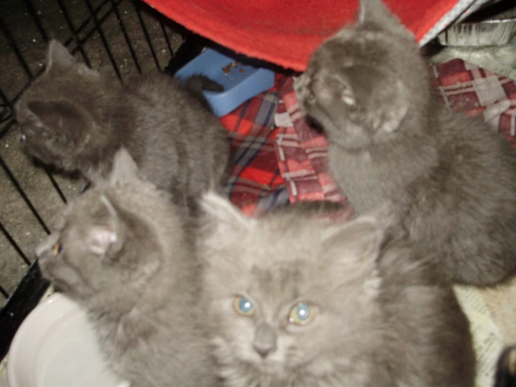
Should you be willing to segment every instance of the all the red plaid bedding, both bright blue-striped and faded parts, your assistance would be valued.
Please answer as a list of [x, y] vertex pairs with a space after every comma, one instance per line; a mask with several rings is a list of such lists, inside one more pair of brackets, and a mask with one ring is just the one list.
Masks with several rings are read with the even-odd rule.
[[[461, 59], [432, 66], [445, 103], [482, 118], [516, 147], [516, 83]], [[327, 142], [297, 105], [293, 79], [221, 117], [233, 150], [224, 193], [246, 214], [300, 200], [345, 201], [327, 170]], [[349, 208], [350, 212], [351, 207]]]

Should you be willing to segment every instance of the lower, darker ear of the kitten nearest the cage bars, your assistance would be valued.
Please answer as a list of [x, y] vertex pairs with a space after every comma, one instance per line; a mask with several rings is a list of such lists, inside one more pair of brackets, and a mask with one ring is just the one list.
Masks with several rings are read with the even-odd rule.
[[54, 131], [83, 133], [88, 129], [87, 118], [66, 101], [30, 101], [27, 108], [40, 122]]

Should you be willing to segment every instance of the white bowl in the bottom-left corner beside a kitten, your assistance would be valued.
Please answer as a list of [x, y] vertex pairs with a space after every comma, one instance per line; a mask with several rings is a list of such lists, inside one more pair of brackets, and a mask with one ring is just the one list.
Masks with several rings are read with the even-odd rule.
[[9, 387], [122, 387], [105, 364], [85, 312], [54, 293], [22, 323], [7, 358]]

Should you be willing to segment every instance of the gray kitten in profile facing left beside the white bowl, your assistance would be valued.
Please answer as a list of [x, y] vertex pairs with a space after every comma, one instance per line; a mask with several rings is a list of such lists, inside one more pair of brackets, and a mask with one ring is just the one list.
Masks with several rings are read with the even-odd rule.
[[68, 205], [36, 250], [43, 277], [84, 307], [108, 363], [132, 386], [217, 385], [201, 266], [181, 219], [121, 149], [110, 181]]

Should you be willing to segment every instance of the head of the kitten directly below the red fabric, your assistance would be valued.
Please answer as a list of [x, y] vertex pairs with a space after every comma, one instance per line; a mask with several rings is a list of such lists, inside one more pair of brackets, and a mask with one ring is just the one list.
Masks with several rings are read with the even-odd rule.
[[361, 0], [357, 23], [320, 45], [294, 88], [330, 141], [360, 149], [418, 114], [426, 74], [412, 34], [381, 0]]

